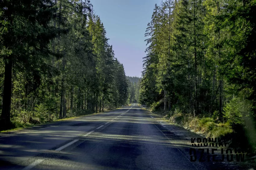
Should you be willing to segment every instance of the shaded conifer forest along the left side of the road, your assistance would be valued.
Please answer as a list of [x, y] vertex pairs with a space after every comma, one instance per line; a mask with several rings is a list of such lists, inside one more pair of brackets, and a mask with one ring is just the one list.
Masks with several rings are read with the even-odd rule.
[[0, 6], [0, 130], [126, 104], [130, 84], [90, 1]]

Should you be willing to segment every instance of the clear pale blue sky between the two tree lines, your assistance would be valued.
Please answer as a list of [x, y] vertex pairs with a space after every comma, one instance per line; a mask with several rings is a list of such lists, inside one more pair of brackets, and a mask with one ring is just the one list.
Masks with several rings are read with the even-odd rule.
[[115, 57], [123, 64], [126, 76], [141, 76], [145, 57], [145, 30], [155, 4], [161, 0], [91, 0], [103, 22]]

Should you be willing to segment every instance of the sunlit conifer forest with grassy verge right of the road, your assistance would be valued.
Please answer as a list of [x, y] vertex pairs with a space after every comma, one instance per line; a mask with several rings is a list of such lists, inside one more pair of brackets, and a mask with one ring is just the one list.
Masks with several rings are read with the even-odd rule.
[[256, 151], [256, 1], [165, 0], [146, 29], [140, 103]]

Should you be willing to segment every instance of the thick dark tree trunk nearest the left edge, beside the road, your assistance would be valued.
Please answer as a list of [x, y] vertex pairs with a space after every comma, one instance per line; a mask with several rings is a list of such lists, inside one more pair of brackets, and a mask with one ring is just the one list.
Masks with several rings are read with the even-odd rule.
[[12, 75], [12, 60], [5, 61], [5, 79], [3, 91], [3, 106], [1, 114], [1, 126], [3, 130], [11, 127], [11, 75]]

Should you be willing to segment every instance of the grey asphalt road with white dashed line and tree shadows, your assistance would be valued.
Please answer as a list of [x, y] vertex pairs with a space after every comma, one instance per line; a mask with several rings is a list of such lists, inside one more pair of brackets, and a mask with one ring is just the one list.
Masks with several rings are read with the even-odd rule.
[[189, 146], [163, 128], [147, 110], [131, 104], [2, 134], [0, 169], [222, 169], [190, 162]]

